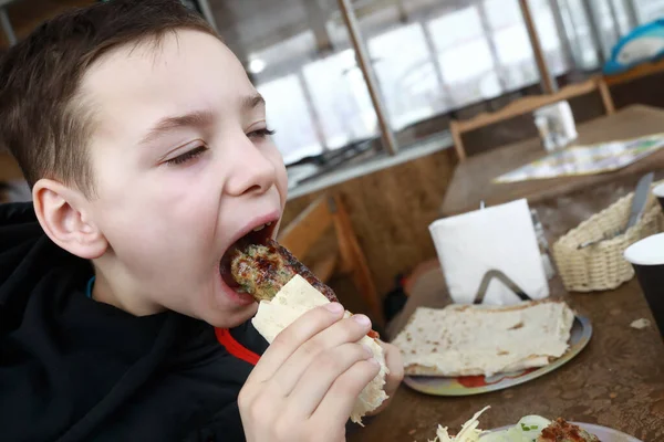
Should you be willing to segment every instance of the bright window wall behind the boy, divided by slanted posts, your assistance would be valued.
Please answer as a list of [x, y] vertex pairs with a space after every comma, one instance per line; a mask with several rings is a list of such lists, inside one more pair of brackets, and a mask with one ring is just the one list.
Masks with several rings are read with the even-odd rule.
[[[380, 136], [335, 1], [228, 4], [239, 23], [235, 41], [232, 33], [226, 40], [240, 48], [266, 95], [269, 123], [287, 164]], [[407, 133], [406, 127], [539, 82], [518, 0], [353, 4], [391, 127], [401, 133], [402, 144], [446, 129], [437, 122], [423, 130]], [[634, 11], [641, 21], [664, 17], [664, 0], [529, 4], [553, 75], [600, 69], [618, 39], [636, 24]], [[225, 17], [219, 21], [229, 25], [222, 29], [231, 29], [232, 20]], [[257, 27], [260, 23], [264, 29]]]

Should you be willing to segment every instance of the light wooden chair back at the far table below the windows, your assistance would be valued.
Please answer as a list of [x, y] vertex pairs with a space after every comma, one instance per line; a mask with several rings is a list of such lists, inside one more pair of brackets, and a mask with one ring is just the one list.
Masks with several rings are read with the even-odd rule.
[[540, 107], [572, 97], [590, 94], [595, 91], [599, 91], [602, 97], [602, 103], [606, 114], [613, 114], [615, 108], [613, 106], [613, 99], [611, 98], [609, 87], [606, 87], [606, 84], [601, 77], [596, 76], [583, 83], [566, 86], [554, 94], [532, 95], [519, 98], [495, 113], [481, 113], [469, 119], [452, 120], [449, 124], [449, 131], [452, 133], [454, 147], [459, 161], [465, 161], [467, 157], [466, 149], [464, 148], [464, 141], [461, 139], [461, 135], [464, 133], [473, 131], [479, 129], [480, 127], [504, 122], [506, 119], [531, 113]]

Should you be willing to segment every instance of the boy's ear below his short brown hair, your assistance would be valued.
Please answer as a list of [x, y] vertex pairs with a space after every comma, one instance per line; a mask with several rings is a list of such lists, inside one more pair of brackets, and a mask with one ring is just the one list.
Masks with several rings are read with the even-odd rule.
[[32, 189], [32, 199], [39, 223], [51, 241], [86, 260], [104, 254], [108, 242], [95, 225], [90, 202], [80, 190], [41, 179]]

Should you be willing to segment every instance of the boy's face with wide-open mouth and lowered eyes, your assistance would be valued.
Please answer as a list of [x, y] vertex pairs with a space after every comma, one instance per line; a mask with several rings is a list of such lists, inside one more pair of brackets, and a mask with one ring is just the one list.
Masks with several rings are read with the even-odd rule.
[[256, 303], [222, 282], [219, 263], [248, 230], [277, 223], [287, 176], [240, 62], [183, 30], [103, 56], [82, 93], [94, 120], [87, 210], [108, 243], [95, 297], [137, 315], [248, 319]]

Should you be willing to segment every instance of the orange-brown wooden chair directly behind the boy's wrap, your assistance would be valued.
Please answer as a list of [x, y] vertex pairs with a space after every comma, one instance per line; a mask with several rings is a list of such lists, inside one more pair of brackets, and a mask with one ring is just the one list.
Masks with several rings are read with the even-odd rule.
[[310, 270], [323, 282], [335, 271], [350, 274], [370, 309], [372, 320], [384, 326], [383, 309], [366, 259], [353, 231], [345, 206], [338, 194], [318, 198], [279, 234], [279, 242], [299, 260], [304, 260], [317, 242], [334, 228], [338, 250], [329, 251], [310, 264]]

